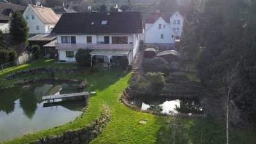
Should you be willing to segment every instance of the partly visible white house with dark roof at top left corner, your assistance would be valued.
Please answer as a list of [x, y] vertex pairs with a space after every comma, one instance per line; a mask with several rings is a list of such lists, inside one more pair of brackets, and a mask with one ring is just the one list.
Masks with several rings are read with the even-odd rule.
[[9, 33], [10, 27], [10, 16], [16, 10], [19, 10], [21, 13], [24, 11], [25, 6], [12, 3], [0, 2], [0, 29], [3, 33]]

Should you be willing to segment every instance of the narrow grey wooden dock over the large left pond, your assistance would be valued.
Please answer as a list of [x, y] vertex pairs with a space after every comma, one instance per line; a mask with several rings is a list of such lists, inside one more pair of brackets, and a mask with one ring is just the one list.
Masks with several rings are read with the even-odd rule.
[[89, 92], [81, 92], [81, 93], [68, 93], [62, 95], [46, 95], [42, 97], [42, 100], [56, 100], [56, 99], [76, 99], [76, 98], [86, 98], [90, 95]]

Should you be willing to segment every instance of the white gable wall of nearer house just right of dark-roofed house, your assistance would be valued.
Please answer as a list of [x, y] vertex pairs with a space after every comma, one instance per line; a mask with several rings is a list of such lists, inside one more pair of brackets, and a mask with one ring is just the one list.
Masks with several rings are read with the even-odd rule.
[[[161, 29], [159, 29], [159, 24], [161, 24]], [[164, 28], [165, 24], [165, 28]], [[163, 34], [163, 38], [161, 35]], [[170, 28], [168, 23], [166, 23], [161, 17], [148, 29], [145, 31], [145, 44], [173, 44], [175, 39], [175, 33]]]

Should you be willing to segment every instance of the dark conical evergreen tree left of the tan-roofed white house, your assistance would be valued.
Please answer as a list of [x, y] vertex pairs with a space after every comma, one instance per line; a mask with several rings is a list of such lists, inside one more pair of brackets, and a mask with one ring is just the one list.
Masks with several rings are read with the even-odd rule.
[[27, 44], [28, 31], [26, 20], [24, 20], [22, 13], [15, 11], [12, 13], [10, 23], [10, 35], [12, 36], [13, 44]]

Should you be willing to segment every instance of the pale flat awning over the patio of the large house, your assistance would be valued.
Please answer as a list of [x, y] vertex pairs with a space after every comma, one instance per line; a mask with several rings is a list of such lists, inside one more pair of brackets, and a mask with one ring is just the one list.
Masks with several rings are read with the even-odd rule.
[[90, 52], [92, 56], [95, 55], [112, 55], [112, 56], [127, 56], [131, 51], [124, 51], [124, 50], [93, 50]]

